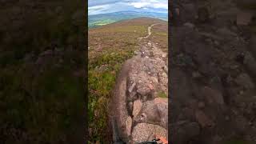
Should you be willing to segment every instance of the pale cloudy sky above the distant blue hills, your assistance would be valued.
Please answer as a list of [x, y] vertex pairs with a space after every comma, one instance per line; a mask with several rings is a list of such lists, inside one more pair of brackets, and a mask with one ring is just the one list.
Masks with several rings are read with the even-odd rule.
[[148, 11], [168, 13], [168, 0], [89, 0], [88, 14], [105, 14], [118, 11]]

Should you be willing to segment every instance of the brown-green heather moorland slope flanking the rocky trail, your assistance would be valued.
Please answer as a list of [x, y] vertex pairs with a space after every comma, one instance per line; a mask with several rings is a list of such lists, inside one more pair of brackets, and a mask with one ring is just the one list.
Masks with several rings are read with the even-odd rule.
[[[89, 30], [90, 141], [111, 138], [107, 130], [110, 92], [123, 62], [137, 53], [138, 38], [152, 28], [154, 41], [167, 49], [167, 22], [156, 18], [134, 18]], [[98, 119], [98, 121], [95, 121]]]

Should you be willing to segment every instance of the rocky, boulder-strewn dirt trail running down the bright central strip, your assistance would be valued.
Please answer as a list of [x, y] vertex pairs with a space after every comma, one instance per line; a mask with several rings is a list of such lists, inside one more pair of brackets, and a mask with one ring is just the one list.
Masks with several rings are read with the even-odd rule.
[[168, 139], [167, 54], [150, 39], [155, 25], [148, 27], [148, 35], [138, 38], [141, 48], [122, 66], [112, 97], [112, 118], [128, 143], [157, 136]]

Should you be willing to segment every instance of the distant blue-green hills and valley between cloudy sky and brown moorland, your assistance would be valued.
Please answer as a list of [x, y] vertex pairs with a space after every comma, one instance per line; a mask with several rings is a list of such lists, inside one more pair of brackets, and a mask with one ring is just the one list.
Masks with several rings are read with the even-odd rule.
[[125, 19], [149, 17], [149, 18], [159, 18], [167, 21], [168, 14], [153, 13], [153, 12], [137, 12], [137, 11], [120, 11], [109, 14], [95, 14], [89, 15], [88, 26], [89, 28], [103, 26], [113, 22], [122, 21]]

